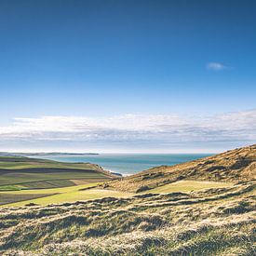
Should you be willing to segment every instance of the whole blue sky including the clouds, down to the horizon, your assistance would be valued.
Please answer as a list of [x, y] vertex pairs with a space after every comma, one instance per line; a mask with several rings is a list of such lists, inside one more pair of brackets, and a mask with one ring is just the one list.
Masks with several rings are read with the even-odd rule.
[[253, 0], [0, 0], [0, 150], [255, 142], [255, 11]]

